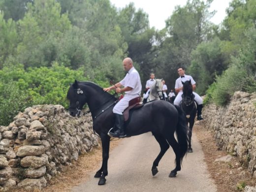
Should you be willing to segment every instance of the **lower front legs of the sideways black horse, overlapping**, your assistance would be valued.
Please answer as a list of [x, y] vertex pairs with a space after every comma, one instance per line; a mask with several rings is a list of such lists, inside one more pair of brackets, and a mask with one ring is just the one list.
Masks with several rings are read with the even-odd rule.
[[105, 177], [108, 174], [107, 161], [109, 158], [109, 144], [110, 137], [107, 134], [100, 135], [102, 145], [102, 165], [101, 168], [96, 172], [95, 177], [99, 177], [98, 185], [104, 185], [106, 183]]

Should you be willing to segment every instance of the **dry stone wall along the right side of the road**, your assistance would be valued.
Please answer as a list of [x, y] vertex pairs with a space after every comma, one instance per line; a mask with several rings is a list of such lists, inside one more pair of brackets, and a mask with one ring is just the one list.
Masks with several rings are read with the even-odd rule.
[[210, 104], [203, 114], [219, 148], [238, 156], [256, 177], [256, 93], [236, 92], [227, 106]]

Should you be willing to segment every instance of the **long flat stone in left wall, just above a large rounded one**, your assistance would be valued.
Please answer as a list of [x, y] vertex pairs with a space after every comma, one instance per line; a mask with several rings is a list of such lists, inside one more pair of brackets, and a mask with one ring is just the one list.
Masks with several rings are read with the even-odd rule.
[[25, 156], [39, 156], [43, 154], [45, 151], [44, 146], [22, 146], [17, 151], [17, 156], [19, 157], [25, 157]]

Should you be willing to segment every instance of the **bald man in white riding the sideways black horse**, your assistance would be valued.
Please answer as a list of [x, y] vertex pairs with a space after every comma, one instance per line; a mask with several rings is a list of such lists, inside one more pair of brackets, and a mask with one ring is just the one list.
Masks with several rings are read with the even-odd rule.
[[[115, 85], [103, 88], [105, 92], [109, 92], [112, 89], [116, 89], [116, 93], [125, 92], [125, 96], [114, 106], [113, 113], [115, 114], [115, 126], [116, 129], [114, 132], [109, 132], [109, 136], [112, 137], [125, 137], [124, 131], [124, 116], [123, 112], [129, 105], [129, 100], [140, 96], [141, 92], [141, 82], [138, 71], [134, 68], [132, 60], [130, 58], [126, 58], [123, 61], [123, 66], [127, 74], [125, 78], [116, 83]], [[124, 86], [124, 88], [120, 88]]]

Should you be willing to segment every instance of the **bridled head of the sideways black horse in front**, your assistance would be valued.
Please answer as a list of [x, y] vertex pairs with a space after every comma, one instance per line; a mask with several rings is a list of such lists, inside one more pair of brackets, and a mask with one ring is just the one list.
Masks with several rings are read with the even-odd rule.
[[80, 115], [81, 110], [86, 103], [85, 91], [79, 87], [79, 82], [75, 82], [69, 87], [67, 92], [67, 99], [69, 100], [69, 114], [73, 117]]

